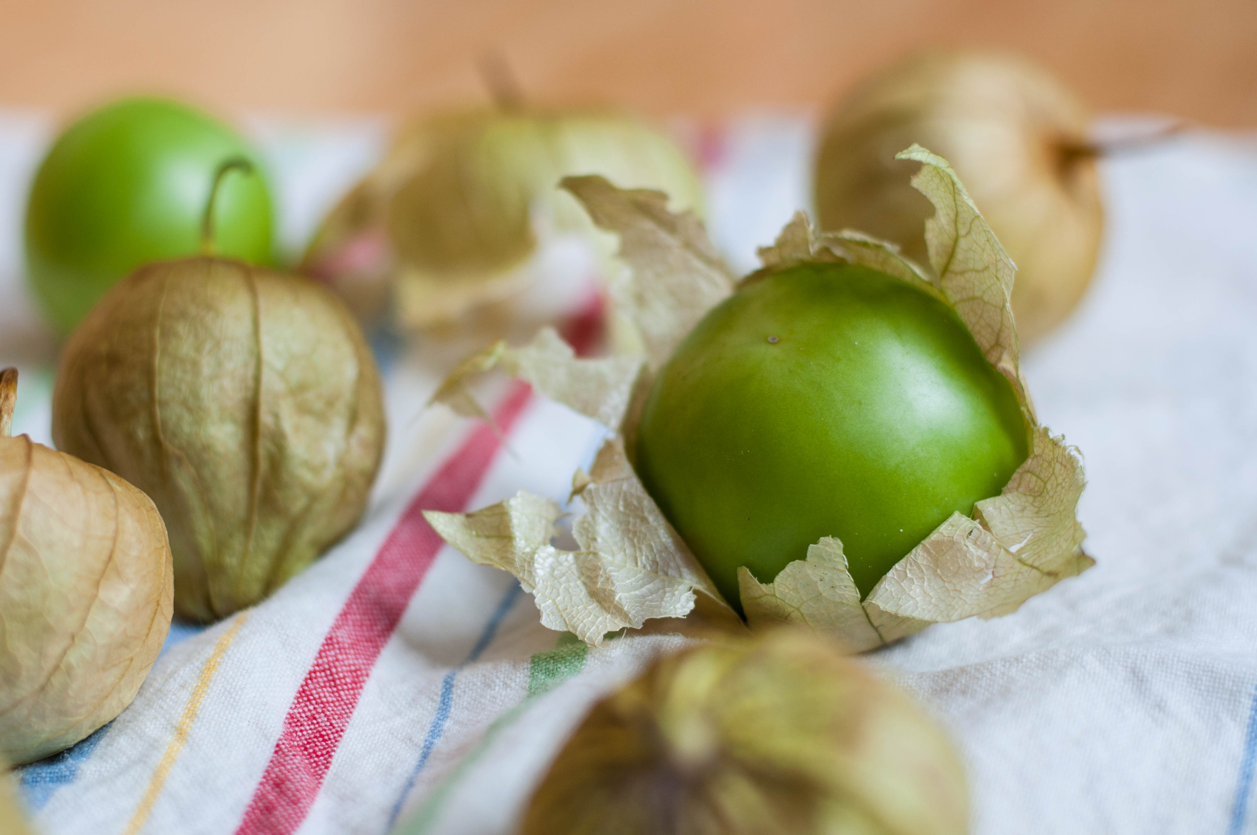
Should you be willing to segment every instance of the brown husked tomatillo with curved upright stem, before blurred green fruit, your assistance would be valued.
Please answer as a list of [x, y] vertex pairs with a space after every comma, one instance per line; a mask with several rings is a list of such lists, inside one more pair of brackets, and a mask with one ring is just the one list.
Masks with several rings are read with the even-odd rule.
[[152, 497], [175, 611], [212, 621], [357, 523], [383, 449], [380, 377], [322, 287], [216, 258], [152, 264], [67, 345], [53, 438]]

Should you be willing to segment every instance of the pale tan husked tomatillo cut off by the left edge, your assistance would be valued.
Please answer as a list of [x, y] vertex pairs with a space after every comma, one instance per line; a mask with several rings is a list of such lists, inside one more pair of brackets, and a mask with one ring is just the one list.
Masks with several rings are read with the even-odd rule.
[[0, 375], [0, 760], [30, 762], [113, 719], [171, 620], [157, 508], [113, 473], [9, 436]]

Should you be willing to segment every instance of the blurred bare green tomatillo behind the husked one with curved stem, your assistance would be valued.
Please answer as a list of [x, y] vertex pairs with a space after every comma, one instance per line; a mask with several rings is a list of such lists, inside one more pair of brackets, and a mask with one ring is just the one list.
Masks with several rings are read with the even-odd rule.
[[272, 260], [272, 200], [254, 151], [231, 128], [178, 102], [126, 98], [72, 124], [35, 174], [26, 206], [26, 274], [62, 333], [123, 275], [201, 250], [215, 172], [243, 156], [254, 174], [224, 177], [214, 252]]

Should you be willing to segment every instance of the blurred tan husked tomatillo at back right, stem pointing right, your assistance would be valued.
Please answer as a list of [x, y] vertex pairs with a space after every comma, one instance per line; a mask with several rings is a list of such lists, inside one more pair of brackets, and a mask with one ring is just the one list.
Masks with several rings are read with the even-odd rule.
[[1019, 58], [913, 55], [865, 80], [826, 122], [816, 161], [823, 229], [859, 229], [926, 263], [929, 201], [909, 185], [911, 143], [945, 157], [1017, 264], [1012, 306], [1032, 342], [1073, 309], [1104, 228], [1086, 108]]

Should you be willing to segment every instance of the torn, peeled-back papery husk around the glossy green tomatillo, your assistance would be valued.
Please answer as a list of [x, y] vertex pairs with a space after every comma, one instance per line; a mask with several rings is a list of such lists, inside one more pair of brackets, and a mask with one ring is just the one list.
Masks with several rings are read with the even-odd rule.
[[[1038, 425], [1021, 375], [1017, 331], [1009, 306], [1013, 264], [945, 160], [918, 146], [901, 152], [900, 157], [921, 163], [913, 185], [935, 206], [925, 233], [933, 267], [930, 274], [900, 255], [892, 245], [859, 233], [817, 233], [799, 214], [773, 246], [760, 250], [764, 270], [744, 280], [755, 280], [766, 270], [798, 263], [846, 260], [884, 270], [931, 292], [957, 311], [987, 360], [1011, 382], [1026, 418], [1031, 451], [1001, 495], [978, 502], [973, 518], [957, 513], [944, 521], [905, 555], [862, 601], [847, 572], [842, 543], [832, 537], [822, 538], [806, 555], [799, 555], [799, 560], [787, 565], [773, 582], [760, 583], [745, 568], [739, 570], [740, 599], [753, 628], [783, 621], [807, 624], [837, 635], [856, 650], [910, 635], [931, 622], [1012, 612], [1032, 595], [1092, 565], [1081, 550], [1085, 534], [1075, 516], [1085, 483], [1081, 459], [1077, 450], [1065, 445], [1063, 439], [1052, 438], [1047, 429]], [[647, 293], [655, 285], [670, 288], [669, 298], [674, 301], [674, 307], [660, 311], [640, 304], [635, 308], [639, 328], [642, 333], [655, 335], [651, 338], [659, 350], [639, 357], [637, 367], [634, 367], [622, 358], [579, 360], [551, 347], [547, 362], [527, 365], [517, 361], [510, 370], [520, 379], [539, 385], [554, 400], [615, 430], [607, 448], [616, 450], [616, 459], [620, 460], [625, 458], [622, 450], [632, 448], [642, 392], [649, 390], [652, 368], [661, 362], [660, 357], [666, 357], [665, 351], [670, 352], [671, 346], [684, 337], [684, 331], [670, 332], [667, 323], [683, 323], [688, 329], [728, 289], [722, 293], [713, 280], [713, 272], [694, 267], [694, 253], [706, 252], [701, 241], [703, 229], [696, 221], [683, 218], [660, 224], [656, 220], [662, 195], [656, 195], [654, 205], [650, 205], [641, 192], [625, 192], [606, 184], [597, 189], [581, 182], [576, 185], [573, 191], [578, 196], [596, 202], [591, 214], [606, 221], [608, 230], [622, 233], [621, 258], [632, 265], [625, 278], [626, 284], [639, 293]], [[635, 229], [649, 226], [679, 231], [655, 236], [632, 234]], [[626, 230], [628, 234], [623, 234]], [[642, 277], [640, 283], [639, 277]], [[552, 345], [553, 340], [546, 337], [522, 351], [534, 351], [530, 356], [535, 357], [535, 346]], [[512, 350], [499, 346], [489, 353], [494, 351], [497, 356], [505, 356]], [[474, 414], [474, 407], [469, 406], [474, 401], [466, 386], [471, 377], [494, 365], [485, 361], [489, 353], [460, 367], [435, 399], [455, 405], [464, 414]], [[626, 397], [626, 391], [632, 394]], [[662, 519], [632, 469], [625, 465], [616, 473], [621, 483], [631, 483], [635, 504], [610, 513], [601, 508], [600, 523], [613, 524], [625, 537], [637, 539], [635, 543], [616, 541], [613, 550], [582, 541], [578, 560], [573, 557], [581, 566], [579, 572], [547, 592], [554, 607], [548, 624], [588, 617], [585, 599], [579, 605], [568, 602], [569, 599], [576, 600], [579, 586], [590, 590], [587, 594], [600, 602], [615, 601], [615, 606], [602, 602], [600, 612], [607, 616], [597, 621], [600, 626], [607, 622], [636, 626], [646, 609], [630, 606], [626, 601], [635, 601], [634, 582], [640, 581], [620, 580], [613, 570], [622, 562], [618, 555], [631, 551], [635, 545], [635, 571], [650, 576], [654, 583], [650, 586], [654, 595], [650, 611], [659, 614], [649, 616], [681, 616], [693, 605], [693, 597], [675, 594], [675, 586], [664, 582], [665, 576], [704, 591], [711, 587], [710, 578]], [[578, 475], [578, 487], [583, 483], [585, 478]], [[523, 495], [479, 513], [495, 514], [499, 527], [493, 536], [513, 537], [512, 547], [523, 542], [527, 542], [524, 550], [529, 552], [551, 547], [551, 527], [528, 528], [522, 511], [525, 503]], [[553, 518], [558, 518], [557, 507], [551, 506], [551, 512]], [[470, 558], [513, 570], [508, 561], [490, 557], [486, 541], [466, 536], [474, 516], [445, 514], [437, 529]], [[578, 528], [583, 518], [577, 519]], [[644, 521], [646, 526], [641, 524]], [[519, 533], [524, 529], [529, 531], [528, 536]], [[657, 545], [660, 539], [666, 541], [666, 548]], [[502, 547], [500, 542], [497, 546]], [[675, 556], [678, 553], [685, 555], [684, 563]], [[685, 566], [684, 571], [676, 568], [680, 565]], [[519, 576], [518, 570], [515, 573]], [[694, 580], [694, 575], [699, 578]], [[667, 596], [656, 591], [662, 586], [669, 589]], [[666, 606], [661, 607], [660, 601], [665, 601]], [[646, 600], [635, 602], [645, 604]], [[578, 634], [590, 640], [593, 628]]]

